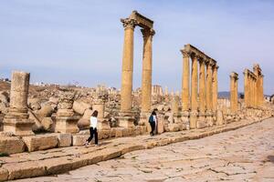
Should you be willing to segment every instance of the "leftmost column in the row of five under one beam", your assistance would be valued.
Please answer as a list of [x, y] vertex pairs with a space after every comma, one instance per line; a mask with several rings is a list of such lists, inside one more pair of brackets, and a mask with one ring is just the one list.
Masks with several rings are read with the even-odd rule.
[[189, 111], [189, 58], [190, 55], [181, 50], [183, 54], [183, 78], [182, 78], [182, 110]]

